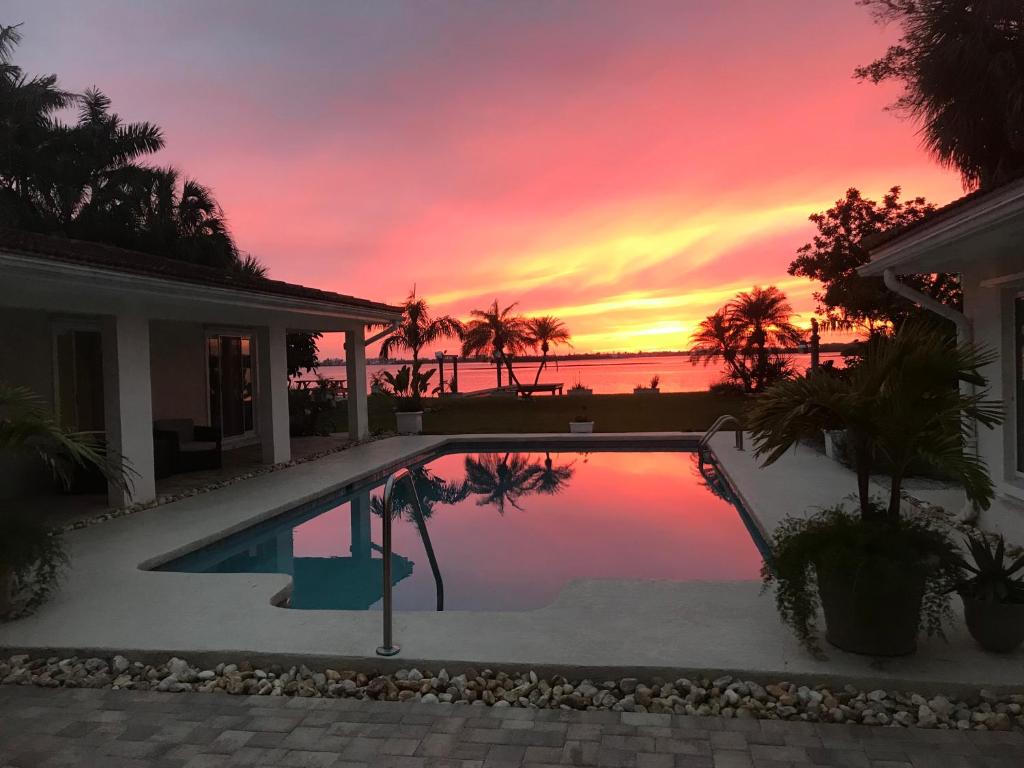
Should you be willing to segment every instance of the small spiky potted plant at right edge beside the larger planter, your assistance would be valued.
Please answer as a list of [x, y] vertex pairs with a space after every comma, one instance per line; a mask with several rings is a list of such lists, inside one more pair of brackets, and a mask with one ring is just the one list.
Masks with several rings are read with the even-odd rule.
[[1009, 653], [1024, 642], [1024, 554], [1007, 559], [1001, 537], [968, 536], [973, 562], [959, 559], [964, 578], [956, 591], [971, 637], [985, 650]]

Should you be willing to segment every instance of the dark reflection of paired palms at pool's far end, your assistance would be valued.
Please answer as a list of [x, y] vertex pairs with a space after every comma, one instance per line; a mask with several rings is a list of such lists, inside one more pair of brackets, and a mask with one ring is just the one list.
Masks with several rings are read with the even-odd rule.
[[478, 506], [493, 504], [499, 514], [505, 505], [522, 509], [518, 502], [529, 494], [557, 494], [572, 477], [571, 465], [555, 466], [550, 454], [543, 463], [528, 454], [480, 454], [466, 457], [465, 487], [479, 497]]

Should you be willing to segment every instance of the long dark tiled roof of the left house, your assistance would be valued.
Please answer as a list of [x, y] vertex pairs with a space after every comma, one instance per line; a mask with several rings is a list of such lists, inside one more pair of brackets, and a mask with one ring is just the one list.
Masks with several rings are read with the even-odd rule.
[[269, 294], [305, 301], [318, 301], [348, 308], [365, 308], [376, 312], [394, 314], [401, 312], [401, 307], [360, 299], [356, 296], [322, 291], [317, 288], [284, 283], [280, 280], [238, 274], [101, 243], [37, 234], [22, 229], [0, 227], [0, 251], [42, 261], [106, 269], [122, 274], [226, 288], [250, 294]]

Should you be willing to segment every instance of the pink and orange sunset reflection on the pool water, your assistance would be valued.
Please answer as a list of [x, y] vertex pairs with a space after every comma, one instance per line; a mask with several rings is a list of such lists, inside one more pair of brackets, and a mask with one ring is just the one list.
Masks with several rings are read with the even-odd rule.
[[[489, 466], [518, 466], [518, 479], [524, 480], [519, 485], [536, 482], [545, 454], [519, 454], [518, 465], [516, 458], [493, 455]], [[466, 461], [466, 455], [444, 456], [427, 469], [459, 485], [467, 479]], [[480, 493], [468, 493], [454, 505], [432, 505], [428, 529], [447, 609], [537, 608], [573, 579], [758, 578], [761, 558], [737, 510], [703, 486], [692, 454], [551, 455], [552, 470], [566, 467], [568, 472], [560, 474], [569, 476], [557, 493], [512, 483], [510, 493], [520, 508], [506, 501], [504, 514], [493, 504], [478, 504]], [[371, 493], [380, 495], [379, 489]], [[380, 518], [371, 517], [373, 541], [380, 542]], [[298, 525], [293, 555], [347, 557], [351, 527], [346, 502]], [[432, 609], [433, 578], [408, 517], [395, 520], [394, 552], [414, 564], [395, 586], [395, 607]]]

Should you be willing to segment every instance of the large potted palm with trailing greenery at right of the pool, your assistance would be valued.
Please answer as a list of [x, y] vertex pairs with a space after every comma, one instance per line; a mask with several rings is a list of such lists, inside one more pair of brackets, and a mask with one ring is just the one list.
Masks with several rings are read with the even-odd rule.
[[[958, 575], [955, 545], [935, 518], [902, 513], [902, 482], [911, 464], [929, 466], [956, 478], [975, 504], [989, 505], [991, 479], [966, 449], [971, 422], [992, 427], [1002, 417], [1000, 403], [985, 398], [979, 373], [991, 359], [940, 330], [909, 324], [871, 339], [864, 360], [843, 377], [818, 371], [778, 382], [749, 412], [765, 464], [801, 438], [846, 430], [858, 509], [786, 518], [762, 573], [775, 587], [783, 622], [810, 650], [820, 652], [819, 604], [826, 638], [844, 650], [912, 652], [923, 618], [929, 634], [941, 633]], [[959, 382], [974, 389], [962, 391]], [[889, 498], [880, 503], [869, 483], [883, 468]]]

